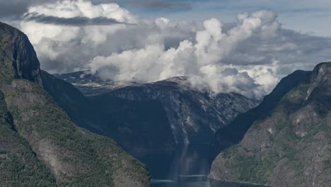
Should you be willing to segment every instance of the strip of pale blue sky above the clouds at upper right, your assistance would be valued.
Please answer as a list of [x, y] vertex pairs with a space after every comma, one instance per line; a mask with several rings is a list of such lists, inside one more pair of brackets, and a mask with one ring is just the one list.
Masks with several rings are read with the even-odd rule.
[[117, 3], [143, 18], [165, 17], [186, 21], [215, 17], [223, 22], [234, 22], [238, 13], [269, 10], [278, 14], [284, 28], [331, 36], [330, 0], [121, 0]]

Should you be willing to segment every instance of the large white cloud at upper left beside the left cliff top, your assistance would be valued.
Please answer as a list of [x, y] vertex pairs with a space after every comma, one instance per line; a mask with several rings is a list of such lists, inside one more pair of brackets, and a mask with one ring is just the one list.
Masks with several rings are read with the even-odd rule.
[[[112, 19], [118, 24], [84, 25], [79, 23], [52, 24], [25, 18], [20, 28], [33, 42], [42, 68], [51, 72], [72, 72], [86, 69], [94, 57], [108, 56], [160, 43], [166, 48], [181, 40], [194, 38], [198, 26], [194, 23], [170, 23], [166, 18], [139, 20], [117, 4], [91, 4], [88, 1], [62, 1], [31, 6], [26, 15], [56, 16], [57, 21], [77, 18]], [[120, 24], [120, 23], [126, 24]], [[129, 24], [128, 24], [129, 23]]]

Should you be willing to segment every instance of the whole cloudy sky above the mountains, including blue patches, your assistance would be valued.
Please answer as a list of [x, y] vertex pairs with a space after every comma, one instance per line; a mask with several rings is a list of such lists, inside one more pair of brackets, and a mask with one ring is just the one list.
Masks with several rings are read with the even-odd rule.
[[51, 73], [186, 76], [195, 89], [250, 98], [331, 61], [329, 0], [0, 0], [0, 21], [28, 35]]

